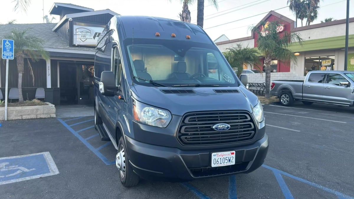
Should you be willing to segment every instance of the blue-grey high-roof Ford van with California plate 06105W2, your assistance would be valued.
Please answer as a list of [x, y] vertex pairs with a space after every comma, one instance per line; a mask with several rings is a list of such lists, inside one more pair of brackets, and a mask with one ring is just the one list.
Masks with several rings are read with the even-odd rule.
[[263, 108], [197, 25], [115, 16], [95, 54], [95, 127], [120, 181], [192, 181], [260, 167]]

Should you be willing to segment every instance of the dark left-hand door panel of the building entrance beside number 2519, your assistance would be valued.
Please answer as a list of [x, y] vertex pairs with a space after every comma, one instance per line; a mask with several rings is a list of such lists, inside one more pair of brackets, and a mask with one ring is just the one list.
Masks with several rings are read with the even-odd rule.
[[60, 63], [60, 104], [78, 103], [77, 65]]

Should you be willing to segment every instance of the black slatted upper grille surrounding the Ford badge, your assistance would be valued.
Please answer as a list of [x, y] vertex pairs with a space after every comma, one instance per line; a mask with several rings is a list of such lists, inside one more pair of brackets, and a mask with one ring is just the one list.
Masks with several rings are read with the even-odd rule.
[[[230, 125], [226, 131], [212, 126]], [[178, 140], [185, 146], [216, 145], [250, 141], [255, 137], [256, 126], [251, 115], [244, 111], [193, 112], [183, 116], [178, 127]]]

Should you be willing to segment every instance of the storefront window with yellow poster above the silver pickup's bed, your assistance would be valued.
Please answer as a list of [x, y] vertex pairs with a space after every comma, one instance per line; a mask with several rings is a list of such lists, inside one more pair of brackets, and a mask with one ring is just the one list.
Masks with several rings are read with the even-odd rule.
[[304, 75], [312, 70], [335, 70], [335, 56], [305, 57]]

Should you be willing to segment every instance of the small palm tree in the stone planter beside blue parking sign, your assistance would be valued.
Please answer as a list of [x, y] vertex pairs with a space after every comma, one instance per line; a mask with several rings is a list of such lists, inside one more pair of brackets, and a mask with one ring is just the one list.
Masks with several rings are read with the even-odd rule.
[[14, 40], [14, 53], [16, 57], [17, 72], [18, 72], [18, 102], [23, 102], [22, 95], [22, 74], [24, 73], [24, 60], [28, 62], [28, 68], [30, 75], [32, 76], [32, 82], [34, 85], [34, 74], [29, 59], [33, 62], [39, 60], [39, 58], [49, 59], [49, 53], [42, 47], [44, 41], [37, 38], [34, 35], [28, 33], [26, 30], [11, 30], [10, 34], [7, 34], [5, 38]]

